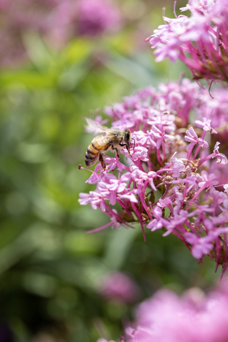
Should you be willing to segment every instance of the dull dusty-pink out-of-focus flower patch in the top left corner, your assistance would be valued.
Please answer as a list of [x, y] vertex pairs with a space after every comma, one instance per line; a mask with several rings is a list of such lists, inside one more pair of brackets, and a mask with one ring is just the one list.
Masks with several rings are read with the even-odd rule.
[[3, 66], [15, 66], [28, 56], [23, 34], [36, 31], [44, 34], [49, 29], [51, 11], [59, 0], [9, 0], [1, 4], [0, 62]]

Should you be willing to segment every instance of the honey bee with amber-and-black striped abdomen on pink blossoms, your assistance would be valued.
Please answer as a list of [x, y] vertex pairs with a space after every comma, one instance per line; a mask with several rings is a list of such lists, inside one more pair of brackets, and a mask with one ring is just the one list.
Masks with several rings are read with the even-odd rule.
[[120, 154], [118, 150], [119, 146], [126, 146], [126, 149], [128, 150], [130, 157], [132, 158], [130, 152], [130, 144], [132, 140], [130, 129], [121, 131], [119, 128], [107, 128], [105, 126], [102, 126], [101, 124], [92, 119], [85, 118], [85, 120], [88, 123], [88, 128], [90, 131], [93, 131], [95, 134], [105, 134], [98, 135], [95, 138], [93, 138], [91, 144], [88, 146], [88, 149], [85, 153], [86, 166], [93, 165], [99, 158], [99, 161], [103, 167], [104, 172], [106, 169], [106, 163], [105, 155], [103, 152], [108, 151], [110, 149], [112, 152], [116, 152], [116, 155], [120, 160]]

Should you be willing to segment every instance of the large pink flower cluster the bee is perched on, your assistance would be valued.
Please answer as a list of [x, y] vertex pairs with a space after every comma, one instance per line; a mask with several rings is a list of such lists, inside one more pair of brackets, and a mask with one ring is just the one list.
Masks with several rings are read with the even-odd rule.
[[[121, 161], [106, 157], [105, 172], [100, 163], [94, 171], [89, 170], [87, 182], [96, 189], [81, 193], [79, 202], [90, 203], [110, 218], [92, 232], [108, 226], [133, 227], [139, 222], [144, 239], [144, 228], [152, 232], [161, 229], [163, 236], [172, 233], [193, 257], [202, 260], [209, 255], [217, 267], [223, 266], [224, 274], [228, 267], [228, 191], [210, 165], [216, 160], [216, 167], [224, 167], [228, 174], [225, 146], [216, 139], [214, 112], [204, 117], [202, 105], [202, 117], [193, 123], [190, 119], [192, 111], [197, 114], [200, 110], [205, 96], [197, 84], [183, 80], [162, 84], [159, 91], [152, 87], [139, 90], [122, 103], [107, 107], [112, 127], [132, 131], [132, 158], [120, 147], [126, 165], [123, 157]], [[225, 122], [225, 117], [222, 120]]]

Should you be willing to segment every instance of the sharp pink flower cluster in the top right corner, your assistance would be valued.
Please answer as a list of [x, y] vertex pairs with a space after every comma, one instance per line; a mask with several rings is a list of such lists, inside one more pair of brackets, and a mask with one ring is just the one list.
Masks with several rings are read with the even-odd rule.
[[[176, 1], [175, 1], [176, 3]], [[194, 79], [228, 81], [228, 0], [189, 0], [181, 12], [190, 17], [163, 16], [163, 25], [148, 37], [156, 61], [184, 62]]]

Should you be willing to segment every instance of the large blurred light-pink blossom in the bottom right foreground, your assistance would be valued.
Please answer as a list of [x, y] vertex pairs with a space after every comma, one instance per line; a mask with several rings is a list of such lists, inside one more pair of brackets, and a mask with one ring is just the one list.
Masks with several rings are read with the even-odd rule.
[[[135, 310], [120, 342], [227, 342], [228, 279], [207, 295], [190, 288], [182, 296], [160, 290]], [[108, 342], [99, 339], [97, 342]]]

